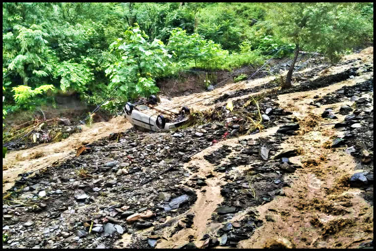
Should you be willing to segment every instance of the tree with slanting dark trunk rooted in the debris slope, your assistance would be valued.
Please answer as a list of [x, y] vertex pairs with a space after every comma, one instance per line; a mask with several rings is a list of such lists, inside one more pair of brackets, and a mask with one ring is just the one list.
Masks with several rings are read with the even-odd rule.
[[282, 88], [291, 87], [300, 50], [317, 50], [335, 61], [339, 52], [362, 43], [368, 26], [355, 5], [346, 3], [276, 3], [269, 16], [274, 32], [295, 44], [293, 62]]

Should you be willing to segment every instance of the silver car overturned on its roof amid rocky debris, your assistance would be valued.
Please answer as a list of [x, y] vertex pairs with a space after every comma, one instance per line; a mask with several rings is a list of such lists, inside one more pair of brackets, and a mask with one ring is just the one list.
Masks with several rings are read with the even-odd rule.
[[158, 105], [157, 98], [130, 103], [123, 107], [125, 118], [137, 129], [166, 131], [183, 125], [188, 120], [189, 108], [184, 106], [180, 111]]

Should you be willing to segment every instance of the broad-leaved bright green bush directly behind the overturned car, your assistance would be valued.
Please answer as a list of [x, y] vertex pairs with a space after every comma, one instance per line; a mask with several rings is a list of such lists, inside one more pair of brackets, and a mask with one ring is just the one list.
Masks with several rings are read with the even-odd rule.
[[136, 99], [159, 92], [154, 78], [162, 76], [171, 64], [164, 43], [158, 39], [149, 43], [147, 39], [136, 24], [124, 32], [124, 38], [110, 45], [116, 62], [105, 71], [111, 79], [109, 88], [119, 86], [125, 97]]

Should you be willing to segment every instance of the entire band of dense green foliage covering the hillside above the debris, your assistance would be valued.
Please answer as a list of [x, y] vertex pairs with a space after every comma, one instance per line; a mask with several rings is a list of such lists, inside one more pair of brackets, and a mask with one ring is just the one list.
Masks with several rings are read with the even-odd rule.
[[[158, 92], [155, 80], [181, 69], [258, 66], [271, 50], [289, 55], [296, 41], [331, 59], [373, 43], [372, 2], [4, 2], [2, 21], [6, 90], [51, 84], [97, 105], [118, 86], [103, 106], [110, 110]], [[8, 113], [53, 100], [11, 96]]]

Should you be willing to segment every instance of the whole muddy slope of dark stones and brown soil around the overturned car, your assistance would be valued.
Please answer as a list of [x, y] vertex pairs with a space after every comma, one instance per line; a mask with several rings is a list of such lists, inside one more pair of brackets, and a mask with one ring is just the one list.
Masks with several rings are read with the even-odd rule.
[[[372, 60], [367, 48], [314, 65], [289, 90], [268, 76], [164, 100], [218, 99], [192, 105], [200, 123], [175, 131], [141, 132], [117, 117], [11, 152], [3, 247], [373, 246]], [[90, 149], [75, 157], [81, 145]]]

